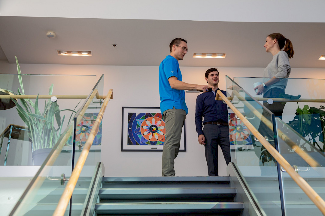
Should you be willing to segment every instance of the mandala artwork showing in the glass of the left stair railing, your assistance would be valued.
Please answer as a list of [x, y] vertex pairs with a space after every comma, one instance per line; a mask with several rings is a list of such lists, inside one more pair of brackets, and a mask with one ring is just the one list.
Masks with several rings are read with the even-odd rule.
[[[76, 145], [81, 142], [85, 144], [88, 139], [88, 136], [93, 128], [93, 122], [95, 122], [98, 113], [85, 113], [84, 117], [77, 125], [76, 128]], [[101, 136], [102, 136], [102, 122], [100, 122], [98, 133], [95, 136], [93, 145], [101, 145]]]

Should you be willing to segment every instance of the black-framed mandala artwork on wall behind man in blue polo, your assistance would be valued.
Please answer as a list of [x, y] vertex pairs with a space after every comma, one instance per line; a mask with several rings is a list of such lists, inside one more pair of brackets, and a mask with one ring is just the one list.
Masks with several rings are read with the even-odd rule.
[[[122, 151], [162, 151], [165, 133], [160, 107], [122, 107]], [[185, 124], [179, 151], [186, 151]]]

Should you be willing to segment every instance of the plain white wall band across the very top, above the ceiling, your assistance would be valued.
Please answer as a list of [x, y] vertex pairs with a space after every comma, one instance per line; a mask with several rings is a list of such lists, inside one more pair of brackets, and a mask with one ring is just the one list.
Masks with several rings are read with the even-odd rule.
[[230, 22], [324, 22], [325, 1], [1, 0], [1, 16]]

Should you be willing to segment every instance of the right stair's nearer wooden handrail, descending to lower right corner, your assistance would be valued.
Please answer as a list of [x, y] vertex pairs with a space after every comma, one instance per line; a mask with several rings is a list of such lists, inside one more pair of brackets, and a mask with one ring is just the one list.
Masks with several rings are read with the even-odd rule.
[[291, 165], [283, 158], [282, 155], [258, 132], [258, 130], [239, 112], [239, 110], [227, 99], [222, 91], [217, 90], [220, 97], [227, 103], [230, 109], [240, 118], [240, 120], [250, 129], [253, 135], [261, 142], [265, 149], [273, 156], [273, 158], [287, 171], [293, 181], [305, 192], [317, 208], [325, 215], [325, 201], [315, 192], [315, 190], [308, 185]]

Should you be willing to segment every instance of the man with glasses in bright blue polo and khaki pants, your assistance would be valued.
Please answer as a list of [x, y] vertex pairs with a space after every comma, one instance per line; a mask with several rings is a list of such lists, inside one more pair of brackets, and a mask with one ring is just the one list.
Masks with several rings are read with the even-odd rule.
[[165, 121], [166, 134], [162, 150], [162, 176], [175, 176], [174, 160], [179, 151], [182, 127], [188, 108], [184, 90], [206, 92], [207, 85], [188, 84], [182, 81], [178, 60], [187, 54], [187, 41], [175, 38], [170, 44], [167, 55], [159, 66], [160, 110]]

